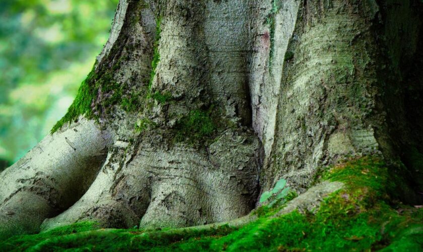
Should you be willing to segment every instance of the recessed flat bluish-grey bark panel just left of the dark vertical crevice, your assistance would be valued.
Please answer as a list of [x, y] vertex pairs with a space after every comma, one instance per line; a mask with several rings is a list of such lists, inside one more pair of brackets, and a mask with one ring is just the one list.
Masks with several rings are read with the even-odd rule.
[[[251, 53], [249, 30], [251, 1], [207, 1], [203, 24], [208, 48], [208, 86], [215, 102], [223, 104], [226, 116], [239, 117], [251, 125], [248, 63]], [[238, 122], [238, 121], [235, 121]]]

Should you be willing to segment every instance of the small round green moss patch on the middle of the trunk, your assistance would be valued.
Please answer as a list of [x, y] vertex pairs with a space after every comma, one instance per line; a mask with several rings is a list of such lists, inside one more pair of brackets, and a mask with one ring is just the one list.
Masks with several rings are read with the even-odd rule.
[[208, 110], [192, 110], [180, 119], [176, 125], [176, 142], [195, 143], [207, 140], [217, 130], [217, 123], [213, 118], [214, 106]]

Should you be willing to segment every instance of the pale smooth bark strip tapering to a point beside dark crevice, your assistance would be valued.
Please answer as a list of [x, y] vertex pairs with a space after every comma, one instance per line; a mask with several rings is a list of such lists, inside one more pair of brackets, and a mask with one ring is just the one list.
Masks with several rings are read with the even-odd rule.
[[274, 140], [279, 90], [286, 68], [285, 55], [292, 53], [288, 51], [288, 44], [299, 19], [301, 2], [259, 1], [255, 5], [251, 38], [254, 49], [249, 77], [252, 127], [263, 142], [266, 159]]

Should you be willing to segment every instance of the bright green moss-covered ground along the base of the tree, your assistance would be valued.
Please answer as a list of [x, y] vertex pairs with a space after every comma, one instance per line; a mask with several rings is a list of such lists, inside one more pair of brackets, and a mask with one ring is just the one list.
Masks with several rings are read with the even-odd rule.
[[[262, 207], [259, 218], [241, 228], [185, 231], [96, 229], [79, 223], [0, 242], [1, 250], [181, 250], [181, 251], [421, 251], [423, 209], [392, 197], [401, 178], [380, 159], [350, 160], [323, 171], [321, 179], [342, 181], [314, 213], [275, 217], [283, 206]], [[253, 213], [254, 214], [254, 213]]]

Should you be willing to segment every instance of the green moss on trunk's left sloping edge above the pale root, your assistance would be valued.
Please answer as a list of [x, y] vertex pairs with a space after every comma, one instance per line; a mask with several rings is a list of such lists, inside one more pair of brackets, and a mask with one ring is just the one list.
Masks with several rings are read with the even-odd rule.
[[[140, 6], [140, 8], [145, 7]], [[135, 16], [133, 18], [136, 21], [137, 17]], [[155, 70], [160, 59], [157, 49], [161, 32], [160, 22], [161, 19], [158, 20], [152, 76], [155, 75]], [[64, 123], [71, 123], [77, 120], [80, 115], [85, 115], [87, 118], [99, 119], [99, 116], [103, 113], [109, 113], [114, 105], [119, 103], [125, 111], [134, 111], [139, 107], [142, 100], [140, 99], [140, 93], [136, 93], [135, 95], [125, 93], [127, 90], [126, 83], [118, 83], [114, 78], [116, 72], [121, 68], [122, 62], [126, 62], [129, 57], [127, 53], [123, 52], [124, 47], [126, 46], [126, 51], [133, 50], [133, 45], [125, 43], [125, 39], [126, 35], [118, 38], [118, 41], [113, 44], [113, 47], [107, 54], [107, 58], [103, 60], [103, 64], [98, 66], [97, 62], [94, 64], [94, 66], [97, 66], [97, 69], [93, 67], [91, 73], [81, 84], [73, 104], [68, 108], [65, 116], [54, 125], [51, 134], [59, 130]], [[116, 56], [119, 57], [115, 58]], [[149, 87], [151, 86], [151, 82], [152, 80], [150, 80]], [[145, 91], [143, 91], [143, 95], [145, 95]], [[93, 110], [97, 110], [99, 113], [94, 114]]]

